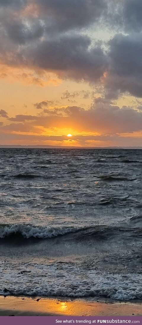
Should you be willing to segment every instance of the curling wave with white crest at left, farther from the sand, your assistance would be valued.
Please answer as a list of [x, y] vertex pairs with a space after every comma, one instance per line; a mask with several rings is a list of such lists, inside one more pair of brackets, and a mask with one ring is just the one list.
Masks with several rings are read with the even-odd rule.
[[[57, 236], [70, 234], [67, 240], [85, 241], [85, 240], [109, 240], [111, 236], [124, 234], [126, 236], [142, 237], [141, 227], [116, 227], [116, 226], [89, 226], [89, 227], [44, 227], [33, 226], [29, 224], [0, 225], [0, 239], [14, 236], [22, 236], [24, 239], [50, 239]], [[73, 234], [73, 236], [72, 236]]]

